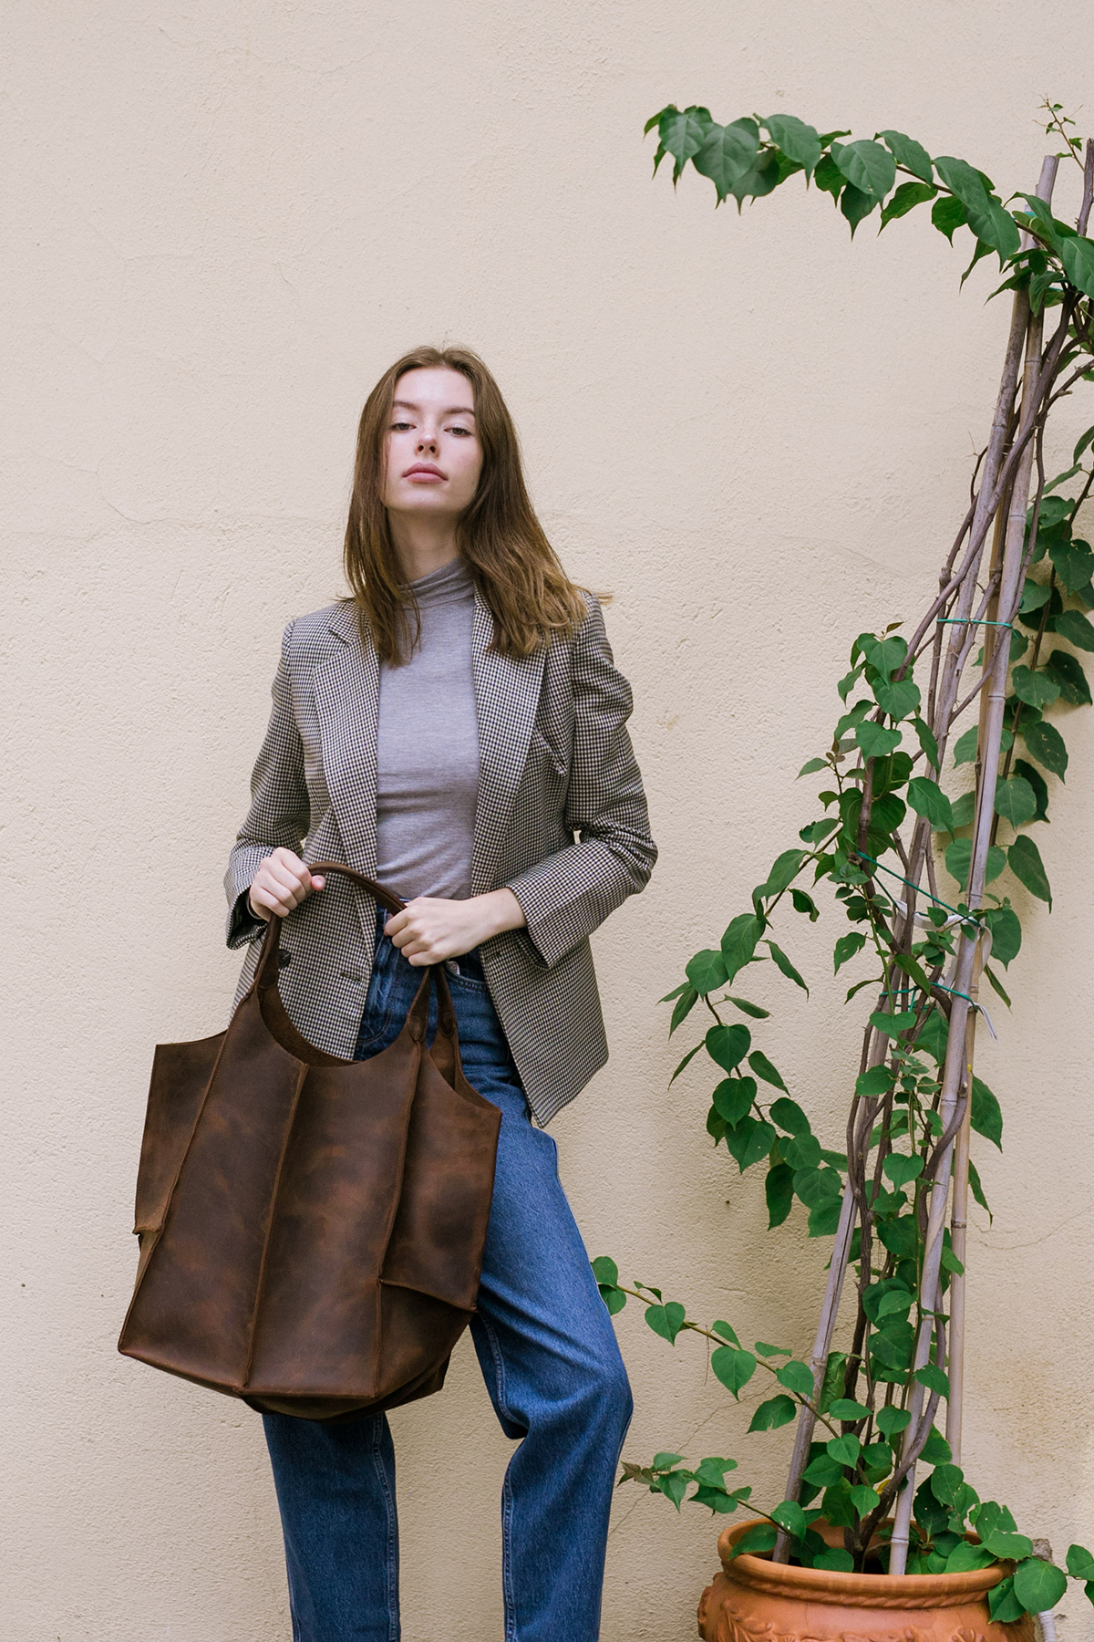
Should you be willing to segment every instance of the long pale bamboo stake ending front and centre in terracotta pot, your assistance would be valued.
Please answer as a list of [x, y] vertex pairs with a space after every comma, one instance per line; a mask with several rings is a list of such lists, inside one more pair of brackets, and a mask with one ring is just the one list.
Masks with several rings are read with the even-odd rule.
[[[1055, 181], [1056, 163], [1046, 161], [1042, 167], [1042, 184], [1038, 184], [1038, 194], [1042, 186], [1048, 187], [1051, 194], [1051, 182]], [[1042, 195], [1043, 197], [1043, 195]], [[1017, 305], [1017, 304], [1015, 304]], [[1033, 440], [1028, 437], [1033, 425], [1033, 419], [1038, 409], [1040, 397], [1040, 368], [1042, 368], [1042, 340], [1043, 340], [1043, 310], [1028, 320], [1027, 327], [1027, 343], [1025, 343], [1025, 365], [1022, 376], [1022, 415], [1019, 420], [1017, 440], [1025, 437], [1025, 445], [1019, 458], [1014, 483], [1010, 489], [1010, 506], [1007, 511], [1007, 530], [1004, 540], [1002, 555], [1002, 573], [999, 586], [999, 611], [1002, 621], [1010, 622], [1019, 608], [1019, 578], [1023, 566], [1025, 552], [1025, 509], [1030, 494], [1030, 475], [1033, 468]], [[971, 596], [969, 596], [971, 609]], [[968, 611], [966, 611], [968, 614]], [[1002, 741], [1002, 711], [1005, 701], [1005, 685], [1007, 685], [1007, 663], [1010, 657], [1010, 645], [999, 644], [994, 647], [991, 658], [989, 673], [989, 690], [987, 690], [987, 709], [984, 713], [984, 744], [981, 749], [981, 780], [978, 791], [976, 806], [976, 824], [973, 832], [973, 860], [969, 867], [969, 885], [968, 885], [968, 905], [976, 910], [982, 905], [984, 897], [984, 878], [987, 869], [987, 849], [991, 844], [991, 826], [996, 810], [996, 782], [999, 777], [999, 749]], [[953, 681], [953, 695], [956, 696], [956, 677]], [[953, 711], [953, 701], [948, 711]], [[943, 722], [946, 722], [943, 719]], [[976, 1030], [976, 1013], [971, 1007], [971, 987], [976, 972], [978, 954], [981, 946], [979, 929], [973, 933], [969, 926], [961, 926], [961, 934], [958, 939], [958, 954], [953, 964], [950, 990], [953, 995], [953, 1005], [950, 1011], [950, 1036], [946, 1041], [946, 1059], [941, 1077], [941, 1098], [938, 1103], [938, 1115], [941, 1118], [943, 1135], [950, 1133], [955, 1126], [955, 1115], [958, 1110], [958, 1100], [961, 1089], [964, 1087], [964, 1112], [971, 1105], [973, 1095], [973, 1066], [971, 1056], [966, 1049], [971, 1048], [974, 1030]], [[973, 1020], [969, 1020], [973, 1016]], [[964, 1112], [961, 1118], [964, 1120]], [[956, 1131], [955, 1131], [956, 1133]], [[932, 1350], [932, 1338], [935, 1333], [935, 1314], [938, 1312], [938, 1302], [941, 1299], [941, 1246], [943, 1246], [943, 1225], [946, 1217], [946, 1202], [950, 1197], [950, 1176], [953, 1163], [953, 1138], [941, 1149], [941, 1156], [933, 1171], [933, 1177], [927, 1186], [928, 1190], [928, 1213], [927, 1213], [927, 1236], [923, 1248], [923, 1269], [920, 1276], [920, 1325], [915, 1342], [915, 1356], [912, 1360], [914, 1371], [927, 1366]], [[951, 1387], [953, 1389], [953, 1387]], [[919, 1379], [912, 1381], [909, 1394], [909, 1410], [912, 1420], [907, 1427], [902, 1461], [907, 1463], [907, 1475], [904, 1479], [904, 1488], [897, 1496], [896, 1520], [892, 1529], [892, 1548], [889, 1555], [889, 1571], [904, 1573], [907, 1568], [907, 1552], [909, 1552], [909, 1534], [912, 1524], [912, 1502], [915, 1494], [915, 1458], [922, 1448], [927, 1432], [922, 1429], [922, 1409], [923, 1409], [923, 1386]]]

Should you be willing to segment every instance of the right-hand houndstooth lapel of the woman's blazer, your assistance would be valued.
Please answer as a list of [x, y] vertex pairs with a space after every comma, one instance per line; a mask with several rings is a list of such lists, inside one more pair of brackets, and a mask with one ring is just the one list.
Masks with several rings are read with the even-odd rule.
[[479, 716], [479, 796], [471, 859], [472, 895], [494, 888], [494, 869], [528, 757], [546, 657], [543, 647], [533, 655], [499, 655], [490, 650], [492, 639], [494, 617], [476, 594], [471, 660]]

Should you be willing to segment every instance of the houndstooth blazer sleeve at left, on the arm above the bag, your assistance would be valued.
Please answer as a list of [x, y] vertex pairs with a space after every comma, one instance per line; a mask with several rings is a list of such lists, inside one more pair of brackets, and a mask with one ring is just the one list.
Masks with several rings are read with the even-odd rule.
[[246, 946], [266, 933], [264, 920], [254, 918], [246, 901], [246, 892], [262, 860], [279, 847], [300, 854], [308, 834], [303, 745], [292, 709], [289, 658], [294, 626], [295, 622], [289, 622], [280, 640], [280, 662], [272, 686], [274, 708], [251, 775], [251, 808], [236, 834], [225, 874], [231, 947]]

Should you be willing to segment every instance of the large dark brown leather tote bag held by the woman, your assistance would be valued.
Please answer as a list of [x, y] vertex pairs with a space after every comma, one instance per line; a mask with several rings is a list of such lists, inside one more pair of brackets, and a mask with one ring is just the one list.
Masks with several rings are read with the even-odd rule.
[[[312, 872], [402, 911], [349, 867]], [[474, 1312], [502, 1115], [463, 1076], [443, 965], [390, 1048], [341, 1061], [289, 1020], [279, 939], [271, 918], [226, 1031], [156, 1049], [118, 1350], [262, 1412], [353, 1419], [444, 1383]]]

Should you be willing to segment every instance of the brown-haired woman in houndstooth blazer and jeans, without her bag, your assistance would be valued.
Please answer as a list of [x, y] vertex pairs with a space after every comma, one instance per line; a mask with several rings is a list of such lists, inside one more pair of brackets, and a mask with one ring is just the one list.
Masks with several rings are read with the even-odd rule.
[[[656, 859], [630, 688], [531, 511], [513, 424], [472, 353], [420, 348], [369, 394], [344, 565], [353, 598], [285, 631], [225, 880], [228, 944], [287, 918], [285, 1007], [346, 1059], [392, 1043], [420, 970], [446, 964], [464, 1071], [502, 1110], [471, 1332], [522, 1438], [502, 1504], [505, 1635], [592, 1642], [631, 1402], [543, 1125], [607, 1059], [589, 934]], [[405, 911], [377, 915], [302, 857], [358, 867]], [[387, 1419], [264, 1419], [294, 1642], [390, 1642]]]

